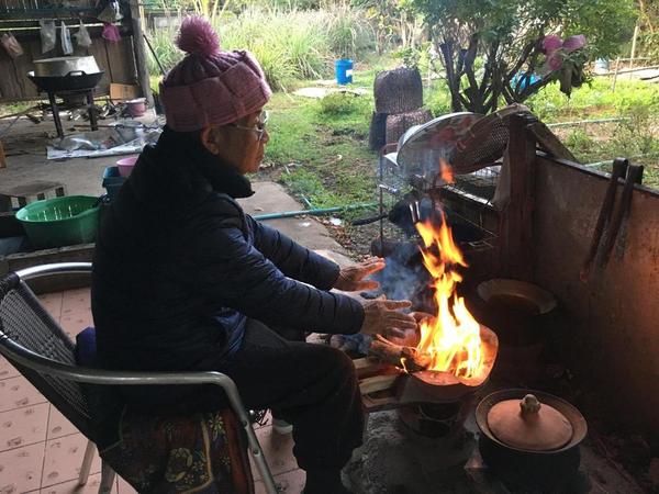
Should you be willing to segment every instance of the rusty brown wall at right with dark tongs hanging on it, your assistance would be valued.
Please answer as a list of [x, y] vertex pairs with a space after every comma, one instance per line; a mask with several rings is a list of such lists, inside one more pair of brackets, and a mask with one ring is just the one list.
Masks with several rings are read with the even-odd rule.
[[659, 434], [659, 191], [636, 187], [622, 256], [614, 248], [584, 283], [579, 272], [608, 178], [545, 157], [534, 168], [533, 281], [569, 315], [556, 328], [568, 362], [599, 383], [619, 424]]

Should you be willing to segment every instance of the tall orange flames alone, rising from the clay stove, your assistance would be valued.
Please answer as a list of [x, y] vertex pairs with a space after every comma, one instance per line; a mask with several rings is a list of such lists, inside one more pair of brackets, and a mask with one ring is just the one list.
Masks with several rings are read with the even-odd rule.
[[[465, 300], [456, 293], [462, 277], [455, 269], [467, 267], [467, 262], [444, 216], [438, 229], [431, 222], [417, 223], [416, 229], [425, 245], [421, 254], [433, 277], [437, 304], [437, 317], [421, 324], [421, 341], [416, 348], [431, 356], [429, 370], [450, 372], [458, 378], [478, 377], [484, 360], [480, 324], [467, 310]], [[434, 246], [438, 256], [431, 251]]]

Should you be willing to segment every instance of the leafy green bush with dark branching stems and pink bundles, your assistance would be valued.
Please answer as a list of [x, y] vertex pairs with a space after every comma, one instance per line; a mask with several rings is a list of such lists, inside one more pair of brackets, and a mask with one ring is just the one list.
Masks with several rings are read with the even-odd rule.
[[[440, 55], [454, 111], [488, 113], [557, 80], [569, 93], [584, 80], [587, 58], [615, 53], [635, 21], [632, 0], [410, 1]], [[583, 34], [589, 48], [549, 48], [543, 42], [554, 33]]]

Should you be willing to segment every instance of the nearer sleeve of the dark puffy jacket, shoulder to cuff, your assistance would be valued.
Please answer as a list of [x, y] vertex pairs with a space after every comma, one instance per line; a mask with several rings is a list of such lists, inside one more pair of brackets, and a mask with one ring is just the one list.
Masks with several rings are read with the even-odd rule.
[[[292, 280], [250, 245], [237, 227], [214, 227], [189, 246], [191, 289], [209, 302], [266, 324], [317, 333], [354, 334], [364, 308], [349, 296]], [[193, 277], [193, 279], [192, 279]]]

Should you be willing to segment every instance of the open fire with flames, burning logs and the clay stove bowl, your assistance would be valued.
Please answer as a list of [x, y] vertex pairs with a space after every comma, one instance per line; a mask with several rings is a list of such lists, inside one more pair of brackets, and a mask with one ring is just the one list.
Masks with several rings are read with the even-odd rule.
[[[415, 224], [423, 239], [420, 247], [423, 263], [433, 279], [436, 315], [421, 322], [417, 339], [396, 341], [378, 337], [369, 349], [369, 357], [402, 368], [403, 375], [410, 378], [401, 381], [403, 401], [418, 401], [418, 396], [424, 396], [422, 401], [440, 403], [447, 396], [457, 398], [483, 384], [496, 359], [496, 335], [473, 318], [457, 293], [462, 281], [458, 269], [466, 268], [467, 262], [443, 214], [440, 220], [438, 226], [432, 221]], [[390, 382], [394, 380], [390, 375]], [[380, 379], [377, 386], [387, 382]], [[429, 391], [436, 386], [444, 390], [440, 395]], [[448, 388], [454, 390], [449, 392]]]

